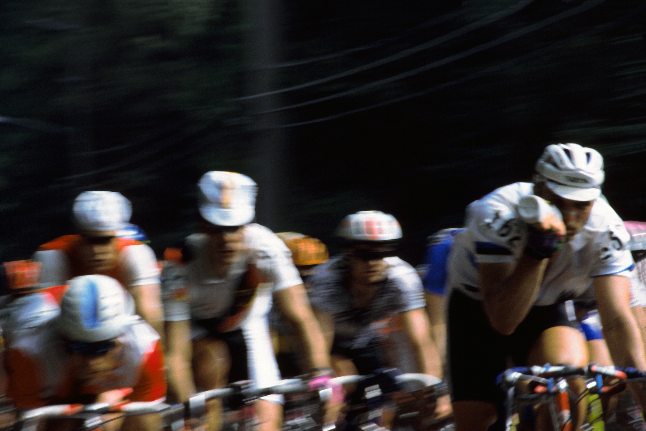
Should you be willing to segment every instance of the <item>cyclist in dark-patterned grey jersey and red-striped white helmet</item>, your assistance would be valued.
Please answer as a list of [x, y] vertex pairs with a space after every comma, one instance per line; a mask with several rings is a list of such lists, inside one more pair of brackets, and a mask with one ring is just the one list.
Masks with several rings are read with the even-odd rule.
[[[402, 231], [395, 217], [359, 211], [342, 220], [337, 236], [344, 252], [319, 266], [310, 279], [310, 302], [335, 372], [367, 375], [384, 367], [382, 344], [390, 319], [399, 315], [419, 371], [441, 378], [421, 280], [412, 266], [396, 257]], [[443, 402], [446, 414], [448, 399]]]

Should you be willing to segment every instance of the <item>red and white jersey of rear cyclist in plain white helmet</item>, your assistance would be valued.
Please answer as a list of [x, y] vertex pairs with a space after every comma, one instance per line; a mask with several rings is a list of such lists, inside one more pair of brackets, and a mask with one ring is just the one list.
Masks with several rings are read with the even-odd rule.
[[[43, 264], [39, 277], [42, 284], [59, 286], [74, 277], [93, 274], [80, 263], [80, 240], [80, 235], [65, 235], [38, 247], [33, 259]], [[116, 246], [119, 249], [117, 266], [99, 274], [118, 280], [125, 288], [160, 282], [160, 269], [151, 247], [125, 238], [116, 238]]]

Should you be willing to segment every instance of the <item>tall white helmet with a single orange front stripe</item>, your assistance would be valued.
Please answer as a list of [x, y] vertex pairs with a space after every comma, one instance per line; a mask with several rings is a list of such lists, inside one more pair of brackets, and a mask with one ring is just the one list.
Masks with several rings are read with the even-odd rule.
[[200, 215], [218, 226], [242, 226], [256, 215], [256, 183], [246, 175], [211, 171], [198, 183]]

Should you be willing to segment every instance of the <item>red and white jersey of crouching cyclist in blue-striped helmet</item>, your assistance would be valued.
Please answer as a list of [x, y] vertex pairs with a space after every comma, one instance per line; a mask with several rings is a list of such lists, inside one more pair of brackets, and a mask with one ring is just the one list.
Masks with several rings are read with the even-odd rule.
[[65, 344], [47, 325], [17, 339], [5, 351], [7, 394], [18, 408], [36, 408], [74, 402], [81, 395], [132, 388], [129, 401], [157, 401], [166, 395], [163, 350], [159, 335], [133, 316], [118, 337], [123, 344], [120, 360], [101, 381], [91, 386], [76, 379], [74, 362]]

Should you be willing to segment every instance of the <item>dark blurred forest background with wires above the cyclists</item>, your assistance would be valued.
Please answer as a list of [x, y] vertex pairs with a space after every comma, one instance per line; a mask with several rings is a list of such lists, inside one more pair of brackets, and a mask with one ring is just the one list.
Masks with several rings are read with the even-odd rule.
[[193, 231], [194, 185], [216, 169], [258, 182], [258, 222], [333, 250], [343, 216], [392, 213], [417, 264], [558, 142], [598, 149], [610, 204], [646, 220], [645, 8], [5, 0], [0, 258], [70, 233], [90, 189], [127, 196], [160, 253]]

